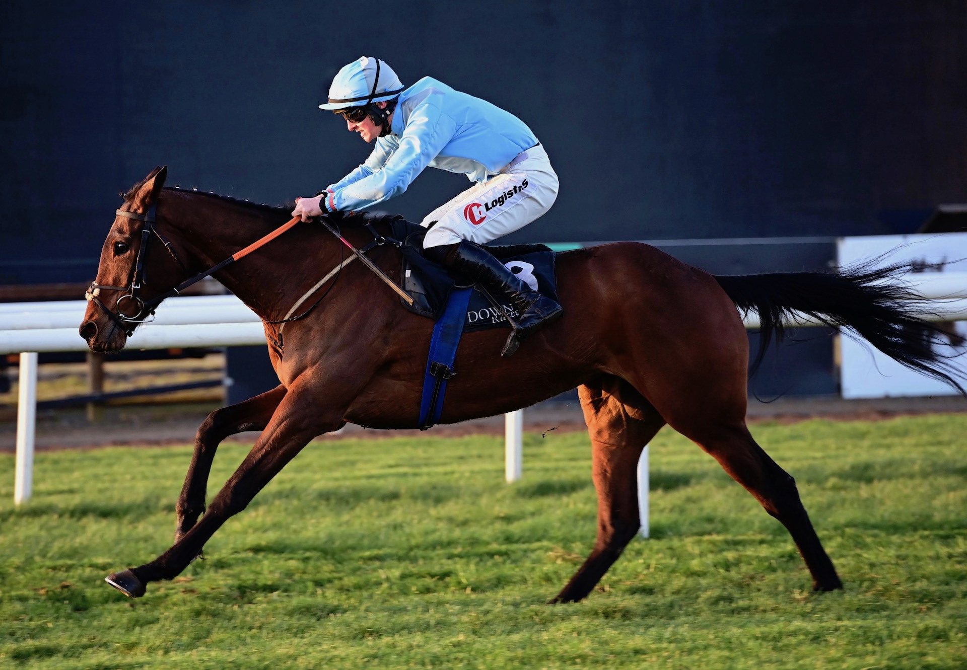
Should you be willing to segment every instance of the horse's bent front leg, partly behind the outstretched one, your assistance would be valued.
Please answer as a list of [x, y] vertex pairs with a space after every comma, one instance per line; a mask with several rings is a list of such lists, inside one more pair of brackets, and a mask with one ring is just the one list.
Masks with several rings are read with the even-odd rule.
[[201, 424], [194, 438], [194, 453], [188, 474], [185, 475], [185, 485], [175, 506], [178, 512], [175, 541], [182, 539], [205, 511], [208, 475], [212, 471], [212, 461], [215, 460], [220, 442], [229, 435], [245, 430], [263, 430], [283, 397], [285, 387], [279, 385], [272, 391], [217, 409]]

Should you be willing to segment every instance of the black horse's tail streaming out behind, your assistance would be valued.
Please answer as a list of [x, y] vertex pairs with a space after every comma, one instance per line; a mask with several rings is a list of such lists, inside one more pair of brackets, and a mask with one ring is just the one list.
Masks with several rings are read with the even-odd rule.
[[967, 395], [954, 378], [950, 358], [931, 346], [941, 332], [917, 314], [930, 312], [929, 303], [892, 279], [909, 268], [867, 266], [838, 273], [778, 273], [718, 277], [718, 284], [743, 312], [759, 314], [759, 351], [754, 373], [773, 337], [782, 339], [783, 319], [801, 312], [833, 328], [852, 329], [874, 347], [910, 369], [950, 384]]

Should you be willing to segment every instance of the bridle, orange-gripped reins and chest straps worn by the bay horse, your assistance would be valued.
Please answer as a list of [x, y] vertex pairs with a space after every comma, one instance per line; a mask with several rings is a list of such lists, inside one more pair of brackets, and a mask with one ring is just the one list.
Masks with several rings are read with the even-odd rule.
[[[110, 319], [129, 337], [134, 333], [134, 329], [139, 324], [145, 323], [148, 317], [154, 316], [155, 308], [161, 305], [162, 301], [168, 298], [171, 298], [173, 296], [181, 295], [181, 292], [184, 291], [189, 286], [191, 286], [192, 284], [197, 283], [198, 281], [200, 281], [201, 279], [204, 279], [205, 277], [210, 277], [214, 275], [215, 273], [231, 265], [232, 263], [235, 263], [241, 260], [242, 258], [248, 256], [249, 253], [251, 253], [252, 251], [258, 248], [264, 247], [268, 243], [278, 238], [279, 235], [281, 235], [285, 231], [292, 228], [296, 223], [298, 223], [301, 220], [300, 217], [293, 217], [291, 220], [284, 223], [283, 225], [280, 225], [278, 228], [270, 232], [268, 235], [265, 235], [264, 237], [256, 240], [255, 242], [251, 243], [248, 247], [243, 248], [239, 251], [236, 251], [228, 258], [225, 258], [223, 261], [221, 261], [220, 263], [217, 263], [216, 265], [212, 266], [208, 270], [198, 273], [197, 275], [190, 277], [185, 281], [181, 282], [174, 288], [162, 293], [160, 296], [157, 296], [156, 298], [153, 298], [150, 301], [144, 302], [140, 298], [138, 298], [135, 293], [139, 288], [141, 288], [142, 284], [145, 283], [144, 259], [147, 254], [148, 241], [150, 240], [152, 234], [158, 237], [158, 239], [161, 241], [161, 244], [168, 251], [168, 253], [171, 254], [171, 257], [175, 259], [178, 265], [180, 265], [183, 270], [186, 269], [185, 265], [181, 262], [177, 254], [175, 254], [174, 250], [171, 248], [170, 243], [168, 243], [168, 241], [161, 236], [161, 233], [159, 233], [155, 229], [156, 210], [157, 210], [157, 205], [152, 205], [148, 209], [148, 212], [145, 214], [137, 214], [135, 212], [125, 212], [123, 210], [115, 211], [115, 214], [119, 217], [132, 218], [134, 220], [139, 220], [144, 222], [144, 227], [141, 228], [141, 244], [137, 249], [137, 257], [134, 259], [134, 266], [132, 268], [131, 283], [128, 286], [108, 286], [106, 284], [99, 284], [97, 283], [97, 281], [94, 281], [91, 283], [90, 287], [87, 289], [87, 291], [84, 294], [84, 297], [89, 302], [94, 302], [97, 306], [99, 306], [104, 311], [104, 313], [106, 313], [107, 316], [110, 317]], [[319, 300], [317, 300], [312, 306], [309, 306], [306, 311], [304, 311], [303, 313], [297, 316], [292, 316], [292, 314], [295, 313], [296, 310], [300, 306], [302, 306], [308, 300], [308, 298], [313, 293], [315, 293], [315, 291], [318, 290], [319, 287], [321, 287], [324, 283], [326, 283], [330, 278], [334, 276], [338, 277], [338, 274], [342, 271], [342, 268], [349, 265], [349, 263], [352, 262], [353, 259], [355, 258], [359, 258], [360, 260], [362, 260], [369, 270], [371, 270], [377, 277], [385, 281], [391, 288], [393, 288], [396, 291], [397, 294], [399, 294], [400, 297], [402, 297], [410, 305], [413, 304], [413, 299], [410, 298], [408, 295], [406, 295], [406, 293], [401, 288], [399, 288], [399, 286], [396, 285], [396, 282], [394, 282], [393, 279], [391, 279], [390, 277], [387, 277], [382, 270], [377, 268], [373, 264], [373, 262], [370, 261], [368, 258], [366, 258], [366, 256], [364, 255], [364, 253], [366, 253], [366, 251], [368, 251], [369, 249], [376, 247], [378, 245], [385, 244], [387, 241], [387, 238], [384, 238], [383, 236], [376, 234], [375, 231], [373, 231], [370, 228], [370, 232], [373, 233], [373, 236], [376, 239], [373, 240], [373, 242], [366, 245], [366, 247], [362, 249], [358, 249], [353, 247], [352, 244], [350, 244], [338, 232], [338, 230], [334, 228], [329, 223], [329, 221], [327, 221], [325, 218], [320, 217], [319, 221], [326, 227], [326, 229], [329, 232], [331, 232], [334, 236], [336, 236], [339, 242], [341, 242], [343, 245], [348, 247], [353, 252], [353, 255], [350, 256], [349, 258], [340, 259], [339, 264], [335, 268], [333, 268], [333, 270], [329, 272], [325, 277], [322, 277], [322, 279], [316, 282], [315, 285], [312, 286], [312, 288], [310, 288], [298, 301], [296, 301], [296, 304], [293, 305], [288, 310], [288, 312], [285, 314], [285, 316], [282, 319], [278, 321], [270, 321], [267, 319], [263, 319], [265, 323], [282, 324], [282, 326], [284, 327], [284, 324], [288, 323], [289, 321], [298, 321], [300, 319], [307, 317], [309, 312], [311, 312], [312, 309], [318, 306], [319, 303], [321, 303], [322, 300], [327, 295], [329, 295], [329, 291], [332, 290], [333, 288], [332, 286], [329, 287], [329, 290], [327, 290], [326, 293], [324, 293], [323, 296], [319, 298]], [[368, 224], [366, 225], [366, 227], [367, 228], [369, 227]], [[335, 285], [335, 281], [334, 281], [334, 285]], [[103, 302], [101, 302], [100, 294], [102, 289], [111, 290], [111, 291], [127, 291], [127, 293], [125, 293], [125, 295], [122, 295], [120, 298], [118, 298], [117, 302], [114, 304], [114, 308], [116, 311], [112, 311], [108, 309], [107, 306], [105, 306]], [[125, 300], [132, 301], [134, 306], [136, 306], [137, 313], [134, 314], [133, 316], [127, 316], [121, 311], [120, 306]], [[278, 330], [279, 330], [279, 335], [281, 335], [282, 329], [279, 328]]]

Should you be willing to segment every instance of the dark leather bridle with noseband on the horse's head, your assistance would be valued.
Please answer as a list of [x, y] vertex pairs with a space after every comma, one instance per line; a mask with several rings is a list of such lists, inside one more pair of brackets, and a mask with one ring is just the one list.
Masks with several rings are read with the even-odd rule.
[[[182, 270], [188, 272], [185, 264], [181, 262], [178, 255], [175, 253], [174, 249], [171, 248], [171, 243], [164, 239], [160, 232], [155, 228], [155, 218], [156, 212], [158, 210], [157, 204], [152, 204], [147, 213], [138, 214], [136, 212], [125, 212], [124, 210], [115, 210], [115, 214], [119, 217], [132, 218], [136, 221], [143, 221], [144, 225], [141, 227], [141, 243], [137, 248], [137, 256], [134, 259], [134, 265], [132, 267], [132, 277], [131, 282], [127, 286], [108, 286], [106, 284], [99, 284], [97, 281], [91, 282], [87, 291], [84, 293], [84, 298], [88, 302], [93, 302], [95, 305], [99, 306], [105, 314], [114, 322], [114, 324], [124, 331], [125, 335], [129, 337], [134, 333], [134, 329], [137, 328], [142, 323], [146, 323], [151, 317], [155, 315], [155, 308], [161, 304], [161, 301], [172, 295], [177, 295], [181, 289], [185, 288], [185, 285], [179, 285], [178, 287], [171, 289], [168, 293], [159, 296], [153, 300], [145, 302], [142, 298], [138, 297], [137, 292], [141, 286], [146, 283], [145, 273], [144, 273], [144, 260], [148, 253], [148, 243], [151, 241], [151, 236], [154, 235], [161, 241], [161, 245], [167, 250], [175, 262], [181, 266]], [[197, 277], [190, 283], [194, 283], [202, 277]], [[117, 302], [114, 303], [114, 311], [108, 309], [107, 306], [101, 302], [101, 291], [124, 291], [124, 295], [118, 298]], [[128, 316], [122, 311], [122, 306], [125, 305], [126, 301], [131, 302], [137, 311], [133, 316]]]

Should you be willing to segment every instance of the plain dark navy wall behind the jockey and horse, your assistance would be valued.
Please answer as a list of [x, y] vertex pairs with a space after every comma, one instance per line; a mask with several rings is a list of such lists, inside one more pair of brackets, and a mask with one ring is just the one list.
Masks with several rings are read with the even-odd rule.
[[[561, 193], [508, 242], [817, 238], [662, 248], [719, 273], [819, 269], [832, 251], [816, 245], [913, 232], [964, 200], [959, 0], [8, 0], [0, 15], [0, 284], [90, 280], [117, 193], [156, 164], [169, 185], [269, 204], [336, 181], [368, 147], [316, 105], [361, 55], [537, 133]], [[469, 186], [429, 169], [388, 209], [419, 220]]]

